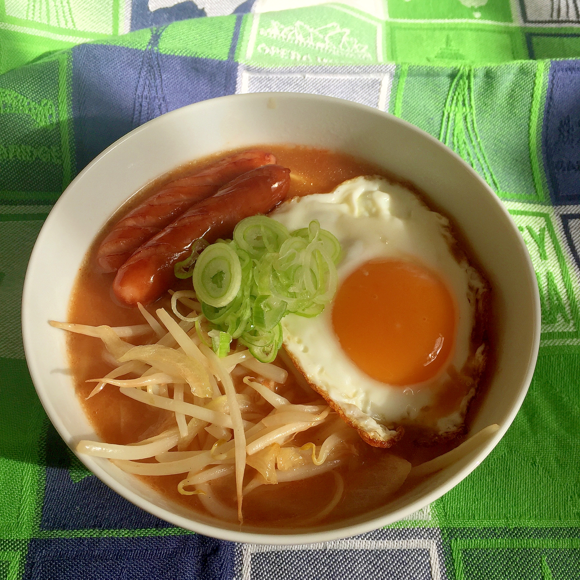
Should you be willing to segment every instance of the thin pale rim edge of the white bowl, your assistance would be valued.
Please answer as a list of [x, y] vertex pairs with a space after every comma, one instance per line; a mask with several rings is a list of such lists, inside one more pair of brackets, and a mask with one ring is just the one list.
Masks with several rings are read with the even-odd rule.
[[173, 111], [170, 111], [169, 113], [161, 115], [160, 117], [151, 119], [151, 121], [148, 121], [147, 123], [137, 127], [136, 129], [133, 129], [133, 131], [126, 133], [126, 135], [120, 137], [117, 141], [108, 146], [104, 151], [102, 151], [102, 153], [100, 153], [99, 155], [97, 155], [97, 157], [95, 157], [92, 161], [90, 161], [89, 164], [86, 165], [85, 168], [78, 173], [78, 175], [73, 179], [73, 181], [70, 184], [68, 184], [67, 188], [63, 191], [63, 193], [60, 195], [59, 199], [56, 201], [55, 205], [51, 209], [48, 218], [46, 218], [45, 223], [43, 224], [38, 234], [37, 241], [34, 244], [34, 248], [32, 249], [30, 260], [28, 262], [26, 276], [24, 278], [23, 295], [21, 302], [21, 327], [24, 343], [24, 353], [26, 356], [26, 361], [28, 369], [30, 371], [32, 382], [34, 383], [34, 387], [35, 390], [37, 391], [38, 398], [42, 403], [42, 407], [44, 407], [45, 412], [48, 415], [50, 421], [55, 426], [57, 432], [65, 442], [73, 439], [73, 436], [68, 431], [66, 426], [64, 426], [63, 421], [60, 419], [59, 413], [50, 403], [49, 397], [46, 394], [44, 387], [42, 386], [43, 373], [41, 369], [37, 368], [34, 357], [32, 357], [32, 350], [34, 350], [34, 346], [32, 345], [31, 342], [32, 329], [31, 328], [29, 329], [32, 319], [31, 317], [28, 316], [28, 303], [30, 302], [30, 296], [34, 289], [34, 282], [32, 280], [32, 271], [34, 270], [35, 262], [37, 262], [37, 260], [39, 259], [38, 255], [41, 251], [44, 234], [48, 229], [48, 227], [50, 226], [51, 220], [54, 219], [55, 213], [60, 210], [60, 207], [62, 205], [67, 203], [67, 200], [71, 195], [74, 195], [73, 190], [75, 184], [77, 184], [77, 182], [82, 180], [85, 174], [88, 173], [93, 166], [98, 164], [107, 155], [110, 155], [115, 150], [115, 148], [117, 148], [121, 143], [124, 143], [128, 139], [132, 139], [133, 137], [135, 137], [135, 135], [137, 135], [137, 133], [143, 131], [146, 127], [154, 124], [155, 125], [162, 124], [166, 122], [168, 118], [178, 117], [179, 115], [190, 115], [192, 111], [196, 111], [198, 109], [202, 110], [205, 106], [208, 106], [208, 103], [221, 102], [223, 103], [223, 106], [227, 107], [227, 104], [231, 102], [232, 99], [239, 101], [242, 99], [245, 100], [272, 99], [272, 98], [280, 99], [281, 97], [298, 100], [316, 100], [321, 103], [327, 102], [339, 104], [342, 107], [354, 109], [358, 111], [358, 113], [362, 113], [365, 115], [376, 115], [379, 118], [387, 117], [390, 119], [391, 122], [400, 124], [405, 129], [407, 129], [407, 131], [414, 132], [420, 138], [431, 142], [436, 147], [443, 150], [447, 155], [451, 155], [451, 157], [454, 158], [454, 160], [458, 162], [460, 165], [463, 165], [463, 168], [467, 169], [467, 171], [469, 171], [472, 174], [472, 176], [478, 180], [480, 185], [483, 186], [483, 189], [487, 192], [487, 194], [493, 198], [495, 205], [498, 206], [498, 208], [503, 212], [503, 215], [512, 226], [514, 233], [517, 235], [517, 240], [519, 242], [520, 249], [524, 250], [524, 252], [522, 253], [524, 256], [524, 260], [527, 262], [528, 270], [530, 271], [530, 280], [532, 283], [532, 289], [534, 290], [533, 313], [532, 313], [534, 317], [534, 337], [532, 340], [532, 347], [530, 352], [530, 359], [527, 365], [527, 372], [525, 374], [525, 378], [523, 379], [519, 395], [514, 404], [512, 405], [512, 408], [510, 409], [509, 413], [507, 414], [505, 422], [499, 427], [494, 436], [492, 436], [487, 441], [484, 447], [480, 448], [477, 455], [474, 455], [472, 459], [461, 470], [459, 470], [458, 473], [455, 474], [454, 477], [451, 477], [447, 481], [444, 481], [436, 488], [434, 488], [433, 491], [423, 495], [420, 499], [417, 499], [416, 501], [409, 503], [405, 507], [401, 507], [400, 509], [396, 510], [396, 512], [391, 512], [390, 514], [387, 514], [385, 516], [371, 517], [370, 519], [365, 520], [361, 523], [351, 525], [339, 524], [338, 527], [333, 528], [331, 530], [315, 531], [315, 532], [298, 531], [296, 534], [260, 533], [258, 531], [256, 532], [238, 531], [217, 527], [215, 525], [202, 523], [201, 521], [188, 519], [184, 516], [172, 513], [169, 510], [166, 510], [160, 506], [155, 505], [154, 503], [148, 501], [147, 499], [142, 498], [142, 496], [138, 495], [136, 492], [129, 490], [124, 485], [115, 480], [114, 477], [110, 476], [110, 474], [104, 471], [104, 469], [95, 461], [95, 459], [91, 458], [90, 456], [77, 454], [75, 449], [71, 449], [78, 457], [78, 459], [87, 467], [87, 469], [89, 469], [90, 472], [95, 474], [101, 481], [103, 481], [103, 483], [105, 483], [112, 490], [114, 490], [119, 495], [127, 499], [129, 502], [135, 504], [136, 506], [141, 507], [146, 512], [151, 513], [154, 516], [157, 516], [158, 518], [165, 520], [173, 525], [184, 528], [185, 530], [190, 530], [202, 535], [212, 536], [213, 538], [227, 541], [247, 542], [261, 545], [300, 545], [305, 543], [327, 542], [363, 534], [364, 532], [381, 528], [385, 525], [389, 525], [391, 523], [403, 519], [404, 517], [407, 517], [409, 514], [412, 514], [422, 509], [423, 507], [429, 505], [429, 503], [432, 503], [436, 499], [443, 496], [447, 491], [451, 490], [451, 488], [455, 487], [455, 485], [457, 485], [463, 479], [465, 479], [465, 477], [467, 477], [491, 453], [492, 449], [494, 449], [494, 447], [499, 443], [499, 440], [501, 440], [503, 435], [506, 433], [507, 429], [509, 429], [510, 425], [512, 424], [517, 412], [519, 411], [524, 401], [525, 395], [527, 394], [528, 388], [532, 380], [532, 375], [534, 374], [535, 364], [539, 351], [540, 329], [541, 329], [541, 309], [539, 301], [538, 284], [534, 274], [534, 267], [532, 265], [530, 253], [527, 251], [527, 248], [525, 247], [523, 237], [521, 236], [520, 231], [517, 229], [516, 224], [513, 222], [512, 216], [510, 216], [506, 206], [495, 194], [495, 192], [491, 189], [491, 187], [487, 184], [487, 182], [485, 182], [485, 180], [451, 148], [445, 146], [438, 139], [436, 139], [432, 135], [429, 135], [429, 133], [423, 131], [422, 129], [418, 128], [415, 125], [412, 125], [408, 121], [401, 119], [400, 117], [396, 117], [395, 115], [386, 113], [385, 111], [380, 111], [373, 107], [369, 107], [345, 99], [338, 99], [336, 97], [311, 95], [309, 93], [291, 93], [291, 92], [245, 93], [216, 97], [215, 99], [208, 99], [205, 101], [177, 108]]

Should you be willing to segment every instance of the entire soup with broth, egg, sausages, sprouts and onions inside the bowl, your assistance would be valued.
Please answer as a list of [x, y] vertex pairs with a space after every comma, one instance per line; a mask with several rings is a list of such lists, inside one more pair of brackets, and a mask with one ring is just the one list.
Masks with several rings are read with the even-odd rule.
[[[411, 184], [342, 153], [257, 150], [266, 155], [234, 160], [239, 166], [231, 165], [236, 152], [224, 153], [160, 177], [90, 247], [69, 321], [54, 323], [72, 331], [76, 392], [104, 442], [81, 441], [77, 451], [108, 457], [224, 524], [332, 524], [386, 505], [494, 431], [463, 441], [490, 367], [488, 287], [448, 220]], [[230, 161], [220, 166], [224, 157]], [[202, 178], [190, 179], [196, 175]], [[227, 205], [260, 187], [276, 194], [270, 206], [251, 197], [241, 204], [249, 209]], [[155, 201], [164, 191], [175, 194], [166, 215]], [[193, 198], [179, 201], [191, 191], [193, 205]], [[220, 199], [224, 215], [241, 211], [238, 218], [250, 222], [234, 234], [242, 219], [220, 218], [205, 237], [239, 243], [192, 245], [200, 237], [195, 220]], [[146, 200], [153, 214], [139, 222]], [[271, 209], [273, 219], [251, 221]], [[147, 221], [151, 215], [157, 222]], [[155, 263], [165, 267], [155, 288], [153, 274], [137, 272], [148, 277], [144, 286], [135, 271], [157, 259], [150, 238], [179, 238], [175, 223], [185, 222], [194, 232], [189, 245]], [[284, 244], [299, 264], [293, 286], [278, 289], [287, 292], [281, 301], [260, 292], [269, 292], [263, 284], [274, 276], [264, 277], [264, 255], [274, 256], [268, 267], [286, 264]], [[296, 282], [309, 251], [314, 265]], [[232, 269], [220, 266], [232, 253]], [[436, 253], [445, 255], [443, 266]], [[233, 294], [223, 296], [229, 284]], [[298, 300], [300, 292], [309, 298]], [[222, 316], [227, 309], [230, 318]]]

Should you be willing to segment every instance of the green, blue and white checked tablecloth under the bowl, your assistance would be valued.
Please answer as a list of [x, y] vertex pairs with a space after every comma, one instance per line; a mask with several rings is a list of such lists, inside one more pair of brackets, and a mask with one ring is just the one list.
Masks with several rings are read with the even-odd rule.
[[[0, 0], [0, 579], [580, 578], [578, 0]], [[290, 90], [389, 111], [487, 180], [532, 256], [542, 343], [494, 452], [411, 519], [324, 545], [191, 534], [90, 476], [28, 375], [20, 296], [52, 204], [186, 104]]]

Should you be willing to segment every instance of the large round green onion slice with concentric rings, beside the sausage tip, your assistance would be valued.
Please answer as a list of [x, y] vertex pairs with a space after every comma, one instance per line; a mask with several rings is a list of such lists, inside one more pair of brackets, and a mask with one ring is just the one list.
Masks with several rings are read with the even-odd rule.
[[229, 304], [242, 282], [240, 258], [229, 244], [212, 244], [201, 252], [193, 269], [197, 298], [219, 308]]

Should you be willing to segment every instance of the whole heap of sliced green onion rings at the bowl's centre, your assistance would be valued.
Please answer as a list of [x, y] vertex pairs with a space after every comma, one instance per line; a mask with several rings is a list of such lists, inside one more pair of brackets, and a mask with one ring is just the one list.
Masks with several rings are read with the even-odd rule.
[[[340, 244], [317, 220], [289, 234], [276, 220], [252, 216], [238, 223], [234, 240], [218, 240], [199, 256], [195, 249], [179, 273], [185, 277], [195, 263], [195, 293], [219, 357], [237, 339], [259, 361], [273, 361], [282, 345], [282, 318], [317, 316], [338, 285]], [[209, 346], [200, 320], [195, 329]]]

